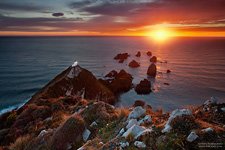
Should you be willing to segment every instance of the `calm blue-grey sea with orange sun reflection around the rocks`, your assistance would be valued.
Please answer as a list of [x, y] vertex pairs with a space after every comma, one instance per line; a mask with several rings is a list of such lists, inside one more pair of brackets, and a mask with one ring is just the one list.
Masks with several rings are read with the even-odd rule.
[[[157, 77], [150, 79], [153, 92], [137, 95], [130, 90], [116, 106], [144, 100], [153, 108], [171, 111], [202, 104], [211, 96], [225, 102], [224, 38], [157, 42], [149, 37], [0, 37], [0, 113], [22, 105], [75, 60], [98, 78], [113, 69], [125, 69], [137, 84], [147, 78], [148, 50], [167, 61], [157, 63]], [[134, 56], [137, 51], [142, 53], [140, 58]], [[131, 54], [123, 64], [113, 59], [121, 52]], [[132, 59], [140, 62], [140, 68], [128, 67]], [[167, 69], [172, 72], [166, 74]]]

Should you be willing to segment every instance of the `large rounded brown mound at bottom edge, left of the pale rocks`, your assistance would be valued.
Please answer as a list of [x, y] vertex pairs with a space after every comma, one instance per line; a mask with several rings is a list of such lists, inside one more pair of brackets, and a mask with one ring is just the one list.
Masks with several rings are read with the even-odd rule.
[[83, 143], [84, 130], [85, 123], [81, 116], [70, 117], [54, 133], [51, 148], [55, 150], [66, 150], [68, 146], [72, 146], [74, 149], [79, 148]]

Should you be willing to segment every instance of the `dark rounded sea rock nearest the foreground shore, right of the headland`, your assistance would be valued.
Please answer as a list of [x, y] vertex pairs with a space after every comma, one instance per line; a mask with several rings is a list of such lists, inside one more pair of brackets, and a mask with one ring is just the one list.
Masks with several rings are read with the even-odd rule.
[[147, 79], [140, 81], [140, 83], [135, 87], [137, 94], [149, 94], [151, 92], [151, 82]]

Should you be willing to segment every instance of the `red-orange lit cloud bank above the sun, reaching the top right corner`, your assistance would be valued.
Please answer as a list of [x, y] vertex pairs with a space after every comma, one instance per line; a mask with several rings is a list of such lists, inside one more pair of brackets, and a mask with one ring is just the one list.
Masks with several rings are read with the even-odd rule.
[[221, 19], [225, 14], [224, 0], [155, 0], [155, 1], [122, 1], [102, 2], [81, 8], [91, 14], [107, 16], [125, 16], [133, 22], [201, 22]]

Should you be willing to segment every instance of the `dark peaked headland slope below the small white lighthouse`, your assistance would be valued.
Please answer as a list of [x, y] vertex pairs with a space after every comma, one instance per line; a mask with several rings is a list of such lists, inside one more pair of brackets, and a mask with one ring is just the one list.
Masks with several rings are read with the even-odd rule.
[[37, 92], [30, 103], [40, 98], [58, 98], [78, 95], [85, 99], [100, 100], [113, 104], [114, 94], [88, 70], [80, 66], [70, 66], [57, 75], [44, 88]]

